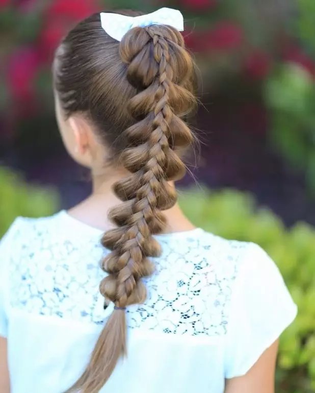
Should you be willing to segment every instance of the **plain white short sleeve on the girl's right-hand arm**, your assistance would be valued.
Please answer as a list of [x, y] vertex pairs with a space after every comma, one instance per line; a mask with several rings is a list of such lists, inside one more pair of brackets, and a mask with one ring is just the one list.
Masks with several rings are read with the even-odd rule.
[[231, 294], [225, 377], [245, 375], [296, 315], [278, 267], [257, 244], [248, 243]]

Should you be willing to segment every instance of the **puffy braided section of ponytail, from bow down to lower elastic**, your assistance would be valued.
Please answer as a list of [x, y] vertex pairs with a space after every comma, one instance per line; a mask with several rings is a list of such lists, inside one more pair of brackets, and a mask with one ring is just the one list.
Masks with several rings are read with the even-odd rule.
[[[103, 261], [103, 268], [110, 276], [102, 281], [100, 290], [117, 307], [145, 300], [146, 291], [140, 279], [152, 273], [147, 257], [160, 255], [160, 246], [152, 234], [165, 229], [166, 220], [161, 211], [171, 208], [177, 199], [168, 181], [185, 174], [185, 165], [170, 147], [176, 147], [172, 125], [176, 124], [175, 131], [182, 134], [180, 147], [192, 141], [190, 130], [172, 108], [172, 105], [178, 107], [180, 100], [183, 107], [187, 105], [185, 96], [179, 95], [179, 85], [173, 81], [173, 67], [179, 62], [174, 46], [182, 48], [181, 35], [167, 27], [134, 30], [127, 33], [120, 45], [122, 60], [129, 64], [128, 80], [142, 90], [128, 106], [133, 117], [142, 118], [125, 132], [129, 146], [134, 147], [130, 146], [121, 157], [122, 164], [134, 175], [115, 185], [116, 194], [126, 201], [110, 213], [120, 227], [102, 239], [102, 244], [112, 253]], [[130, 41], [135, 37], [136, 43], [142, 43], [144, 38], [145, 44], [138, 44], [136, 53], [132, 53], [130, 47], [137, 45], [130, 45]], [[172, 60], [170, 51], [173, 51]], [[149, 58], [145, 59], [146, 56]], [[188, 94], [186, 98], [191, 97]], [[177, 135], [177, 145], [179, 141]]]

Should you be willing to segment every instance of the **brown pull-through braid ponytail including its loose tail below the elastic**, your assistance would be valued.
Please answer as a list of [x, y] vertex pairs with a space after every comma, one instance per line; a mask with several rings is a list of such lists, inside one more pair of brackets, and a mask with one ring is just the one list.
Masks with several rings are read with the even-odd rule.
[[126, 352], [126, 320], [121, 308], [146, 299], [141, 279], [154, 271], [148, 257], [161, 253], [152, 235], [165, 230], [162, 211], [177, 200], [169, 181], [185, 174], [176, 151], [193, 141], [180, 119], [195, 103], [193, 62], [181, 34], [168, 26], [134, 28], [123, 37], [119, 52], [137, 93], [127, 108], [135, 124], [124, 132], [126, 149], [120, 156], [131, 175], [114, 185], [123, 203], [110, 211], [117, 228], [102, 238], [102, 245], [111, 252], [102, 261], [108, 276], [101, 281], [100, 292], [118, 309], [102, 331], [85, 373], [72, 388], [84, 393], [98, 392]]

